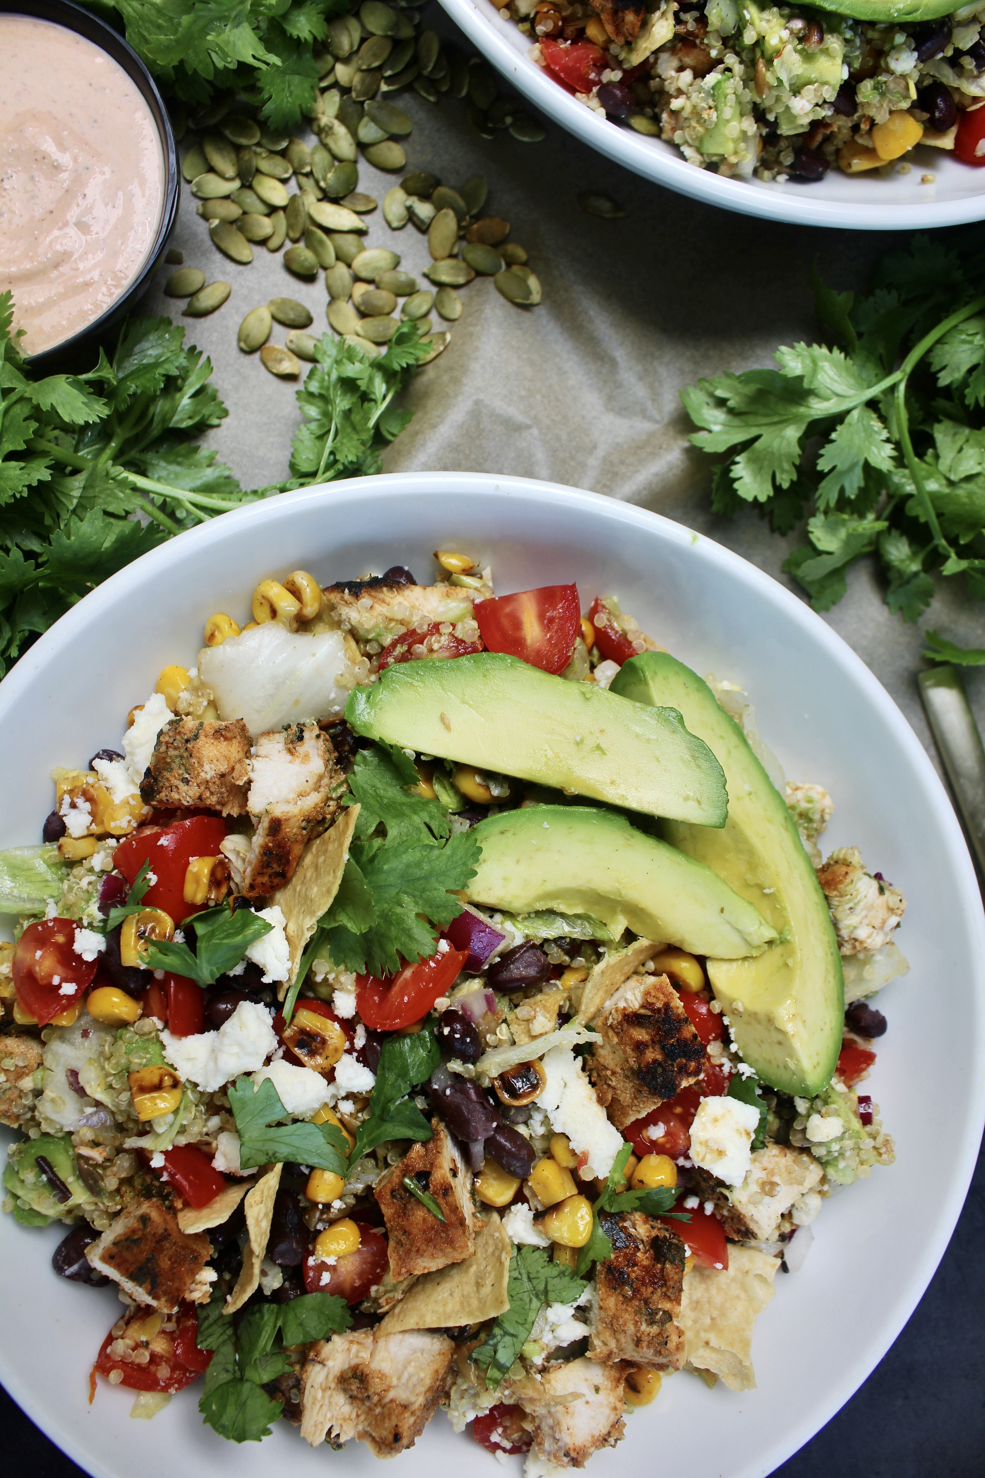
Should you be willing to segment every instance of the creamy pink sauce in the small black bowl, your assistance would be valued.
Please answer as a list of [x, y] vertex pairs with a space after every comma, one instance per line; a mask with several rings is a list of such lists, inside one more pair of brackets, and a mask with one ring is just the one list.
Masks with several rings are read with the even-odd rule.
[[50, 21], [0, 15], [0, 293], [22, 353], [61, 344], [127, 288], [154, 245], [165, 174], [123, 67]]

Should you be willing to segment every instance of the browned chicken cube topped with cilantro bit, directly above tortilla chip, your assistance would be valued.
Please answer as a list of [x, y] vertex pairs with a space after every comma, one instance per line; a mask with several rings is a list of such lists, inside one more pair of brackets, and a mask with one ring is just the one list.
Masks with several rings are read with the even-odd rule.
[[[471, 1172], [442, 1120], [433, 1119], [431, 1128], [434, 1137], [412, 1145], [374, 1191], [387, 1224], [394, 1283], [464, 1262], [476, 1252], [480, 1222], [473, 1210]], [[405, 1178], [434, 1197], [443, 1222], [406, 1188]]]

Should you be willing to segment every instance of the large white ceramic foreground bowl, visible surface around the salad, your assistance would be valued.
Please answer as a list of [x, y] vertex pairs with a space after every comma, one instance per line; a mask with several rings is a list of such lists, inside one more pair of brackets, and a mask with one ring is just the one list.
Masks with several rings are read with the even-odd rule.
[[[743, 684], [761, 730], [796, 779], [834, 797], [830, 847], [858, 844], [910, 899], [901, 944], [911, 974], [880, 998], [889, 1032], [867, 1085], [898, 1159], [824, 1206], [802, 1271], [778, 1277], [753, 1344], [759, 1389], [678, 1375], [628, 1437], [592, 1459], [597, 1478], [666, 1472], [761, 1478], [855, 1391], [899, 1333], [947, 1246], [982, 1128], [985, 933], [975, 873], [948, 800], [914, 733], [871, 672], [805, 605], [690, 529], [625, 503], [477, 473], [366, 477], [272, 498], [146, 554], [87, 596], [0, 684], [6, 780], [0, 845], [31, 842], [50, 810], [55, 764], [118, 742], [127, 709], [167, 662], [191, 664], [204, 619], [245, 616], [257, 579], [303, 565], [322, 581], [406, 563], [434, 548], [490, 560], [496, 588], [577, 581], [582, 605], [617, 593], [699, 672]], [[933, 992], [933, 1009], [930, 1005]], [[945, 1119], [930, 1110], [947, 1082]], [[936, 1097], [935, 1097], [936, 1094]], [[59, 1228], [0, 1216], [0, 1377], [93, 1478], [269, 1478], [378, 1472], [365, 1447], [312, 1451], [285, 1423], [235, 1447], [201, 1425], [195, 1388], [154, 1420], [87, 1375], [120, 1312], [111, 1289], [55, 1276]], [[442, 1414], [400, 1459], [406, 1478], [447, 1462], [498, 1471]], [[511, 1460], [517, 1478], [518, 1460]]]

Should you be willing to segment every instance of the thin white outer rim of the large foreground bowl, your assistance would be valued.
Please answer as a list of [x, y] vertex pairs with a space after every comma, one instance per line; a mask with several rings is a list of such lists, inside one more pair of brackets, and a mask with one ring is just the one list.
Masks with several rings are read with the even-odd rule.
[[[540, 507], [554, 507], [561, 514], [564, 510], [579, 508], [589, 514], [648, 531], [650, 534], [657, 532], [662, 539], [678, 548], [694, 550], [700, 545], [701, 556], [707, 562], [709, 569], [721, 569], [724, 573], [738, 578], [741, 584], [758, 591], [778, 607], [787, 619], [793, 621], [820, 643], [826, 653], [862, 689], [865, 699], [892, 730], [895, 740], [917, 772], [917, 777], [927, 786], [930, 795], [933, 795], [944, 841], [953, 859], [958, 884], [955, 906], [964, 913], [969, 924], [969, 934], [978, 946], [979, 978], [985, 983], [985, 912], [978, 875], [964, 841], [964, 834], [929, 754], [879, 678], [843, 637], [828, 627], [820, 615], [811, 610], [805, 602], [740, 554], [732, 553], [707, 535], [687, 528], [687, 525], [601, 494], [566, 488], [560, 483], [548, 483], [533, 477], [496, 476], [493, 473], [380, 473], [368, 477], [323, 483], [315, 488], [300, 488], [260, 503], [247, 504], [242, 508], [223, 514], [222, 519], [188, 529], [140, 556], [140, 559], [109, 576], [109, 579], [61, 616], [0, 681], [0, 721], [22, 701], [25, 689], [35, 678], [38, 670], [46, 665], [47, 659], [61, 649], [71, 646], [84, 625], [89, 625], [90, 621], [97, 619], [115, 606], [121, 596], [131, 594], [140, 597], [151, 579], [167, 572], [186, 553], [208, 548], [210, 545], [220, 547], [226, 537], [239, 532], [244, 526], [255, 525], [260, 531], [285, 513], [289, 514], [297, 507], [312, 504], [331, 513], [332, 507], [338, 504], [347, 504], [350, 500], [357, 501], [365, 508], [366, 528], [372, 529], [374, 503], [391, 498], [397, 489], [402, 500], [408, 501], [415, 495], [428, 500], [446, 498], [449, 503], [453, 498], [459, 510], [462, 497], [468, 498], [471, 495], [498, 497], [504, 503], [508, 503], [511, 498], [515, 501], [532, 498]], [[985, 1126], [985, 1014], [981, 1015], [976, 1032], [975, 1061], [976, 1085], [970, 1092], [970, 1100], [975, 1103], [976, 1095], [978, 1103], [976, 1111], [963, 1120], [957, 1134], [958, 1153], [955, 1154], [955, 1163], [958, 1171], [947, 1185], [944, 1194], [938, 1197], [933, 1234], [926, 1239], [919, 1255], [908, 1264], [905, 1276], [899, 1278], [890, 1317], [852, 1349], [839, 1377], [831, 1380], [827, 1397], [820, 1409], [812, 1409], [809, 1414], [800, 1417], [783, 1435], [777, 1437], [771, 1447], [765, 1447], [758, 1456], [755, 1466], [747, 1465], [743, 1469], [743, 1478], [761, 1478], [761, 1475], [771, 1474], [830, 1422], [836, 1411], [840, 1410], [868, 1375], [871, 1375], [926, 1292], [961, 1213], [975, 1172], [982, 1128]], [[123, 1466], [108, 1466], [102, 1457], [96, 1457], [87, 1451], [83, 1440], [78, 1440], [71, 1431], [62, 1428], [58, 1417], [52, 1420], [50, 1413], [44, 1410], [43, 1398], [38, 1397], [35, 1389], [28, 1386], [27, 1377], [22, 1379], [10, 1355], [12, 1351], [9, 1348], [4, 1349], [4, 1344], [0, 1342], [0, 1379], [35, 1425], [77, 1463], [87, 1466], [87, 1471], [95, 1478], [123, 1478]]]

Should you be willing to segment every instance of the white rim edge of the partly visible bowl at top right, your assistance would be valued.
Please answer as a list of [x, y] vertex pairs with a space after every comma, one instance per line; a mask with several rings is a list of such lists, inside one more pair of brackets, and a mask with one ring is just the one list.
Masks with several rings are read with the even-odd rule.
[[[976, 195], [953, 201], [914, 201], [913, 204], [868, 204], [812, 200], [809, 186], [797, 186], [799, 195], [756, 189], [738, 179], [725, 179], [709, 170], [696, 168], [676, 151], [654, 149], [654, 140], [632, 129], [622, 129], [586, 108], [552, 81], [542, 68], [529, 62], [512, 46], [490, 0], [440, 0], [442, 9], [478, 47], [518, 92], [548, 118], [560, 123], [582, 143], [604, 154], [614, 164], [641, 174], [654, 185], [663, 185], [678, 195], [687, 195], [704, 205], [718, 205], [740, 216], [781, 220], [796, 226], [827, 226], [840, 231], [938, 231], [942, 226], [966, 226], [985, 217], [985, 176]], [[499, 24], [496, 24], [499, 22]]]

